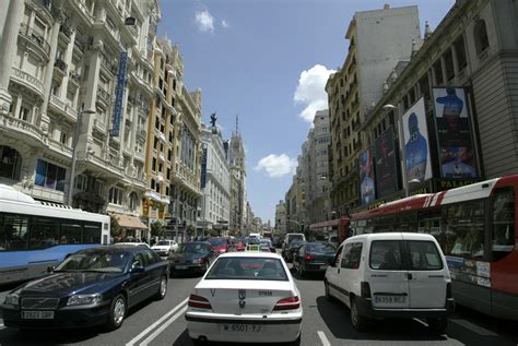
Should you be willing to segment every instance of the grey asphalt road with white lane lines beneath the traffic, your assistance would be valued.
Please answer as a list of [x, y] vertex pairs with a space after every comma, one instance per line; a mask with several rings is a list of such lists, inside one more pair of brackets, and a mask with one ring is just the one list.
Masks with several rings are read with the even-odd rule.
[[[299, 277], [304, 305], [305, 346], [329, 345], [518, 345], [516, 323], [496, 320], [466, 308], [451, 317], [445, 334], [438, 335], [419, 320], [379, 320], [368, 333], [353, 330], [349, 310], [323, 296], [322, 277]], [[190, 290], [199, 277], [175, 277], [167, 297], [146, 301], [130, 310], [122, 326], [114, 332], [101, 329], [19, 332], [0, 320], [0, 345], [191, 345], [184, 311]], [[0, 300], [9, 287], [0, 287]], [[217, 344], [214, 344], [217, 345]], [[225, 344], [226, 345], [226, 344]]]

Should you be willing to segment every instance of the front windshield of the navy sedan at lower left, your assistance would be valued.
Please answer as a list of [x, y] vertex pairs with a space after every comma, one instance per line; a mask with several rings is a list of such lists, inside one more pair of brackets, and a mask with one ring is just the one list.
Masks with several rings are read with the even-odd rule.
[[128, 265], [127, 252], [89, 252], [68, 256], [55, 272], [122, 273]]

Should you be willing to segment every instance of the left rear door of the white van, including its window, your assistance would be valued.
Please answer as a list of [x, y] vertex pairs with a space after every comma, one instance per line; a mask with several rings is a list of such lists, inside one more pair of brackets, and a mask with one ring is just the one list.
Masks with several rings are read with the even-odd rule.
[[365, 279], [376, 309], [409, 308], [409, 281], [401, 234], [373, 240]]

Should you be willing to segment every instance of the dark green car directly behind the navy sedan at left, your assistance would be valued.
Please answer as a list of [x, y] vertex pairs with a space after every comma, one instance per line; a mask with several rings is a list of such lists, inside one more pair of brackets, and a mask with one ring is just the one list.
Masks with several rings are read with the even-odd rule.
[[183, 243], [178, 252], [169, 254], [170, 275], [181, 273], [203, 274], [214, 256], [216, 256], [216, 253], [208, 241]]

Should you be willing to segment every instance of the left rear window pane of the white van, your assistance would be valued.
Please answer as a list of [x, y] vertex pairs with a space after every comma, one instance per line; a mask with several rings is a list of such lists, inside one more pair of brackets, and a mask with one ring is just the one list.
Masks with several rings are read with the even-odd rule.
[[401, 271], [402, 259], [400, 240], [375, 240], [370, 244], [369, 265], [373, 270]]

